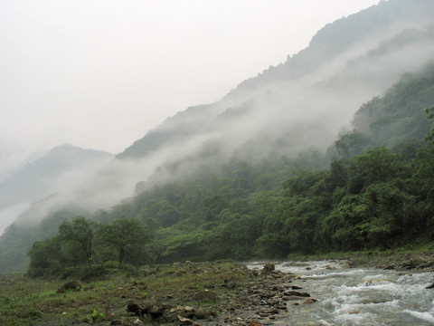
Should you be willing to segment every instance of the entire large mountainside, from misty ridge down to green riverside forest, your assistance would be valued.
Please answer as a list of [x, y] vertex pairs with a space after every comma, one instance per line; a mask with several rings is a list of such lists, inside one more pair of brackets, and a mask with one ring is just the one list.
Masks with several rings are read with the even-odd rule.
[[[389, 0], [343, 17], [221, 101], [144, 130], [79, 187], [18, 216], [0, 270], [24, 270], [33, 243], [77, 216], [92, 232], [141, 221], [156, 262], [387, 248], [412, 232], [428, 241], [433, 11]], [[108, 257], [99, 248], [95, 261]]]

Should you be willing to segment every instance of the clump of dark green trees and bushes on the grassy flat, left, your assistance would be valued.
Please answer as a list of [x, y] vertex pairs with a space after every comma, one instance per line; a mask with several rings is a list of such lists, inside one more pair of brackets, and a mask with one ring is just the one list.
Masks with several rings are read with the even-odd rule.
[[[147, 239], [145, 228], [137, 219], [116, 219], [104, 225], [81, 216], [71, 222], [65, 220], [59, 226], [59, 235], [33, 244], [28, 253], [31, 261], [27, 274], [68, 277], [74, 273], [76, 278], [87, 280], [104, 273], [105, 266], [114, 263], [144, 264]], [[118, 261], [113, 262], [115, 259]]]

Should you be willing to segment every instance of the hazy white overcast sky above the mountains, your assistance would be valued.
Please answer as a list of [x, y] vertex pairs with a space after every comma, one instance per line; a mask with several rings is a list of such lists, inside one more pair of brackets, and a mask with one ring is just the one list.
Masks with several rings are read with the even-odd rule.
[[69, 142], [118, 153], [379, 0], [0, 0], [0, 174]]

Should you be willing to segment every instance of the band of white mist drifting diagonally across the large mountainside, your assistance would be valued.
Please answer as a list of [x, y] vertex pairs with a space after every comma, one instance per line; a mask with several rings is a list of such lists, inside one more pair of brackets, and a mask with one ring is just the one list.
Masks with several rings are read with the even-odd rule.
[[338, 53], [331, 67], [290, 81], [235, 90], [222, 101], [179, 113], [148, 134], [165, 135], [156, 149], [138, 158], [116, 158], [67, 198], [77, 198], [90, 212], [109, 209], [134, 196], [139, 181], [146, 181], [147, 187], [175, 182], [192, 176], [201, 165], [219, 168], [234, 156], [251, 161], [271, 152], [288, 157], [306, 149], [324, 152], [339, 130], [351, 129], [354, 112], [363, 102], [382, 94], [403, 73], [416, 72], [432, 61], [430, 28], [421, 30], [428, 37], [391, 51], [381, 50], [390, 40], [388, 33], [384, 41], [359, 43]]

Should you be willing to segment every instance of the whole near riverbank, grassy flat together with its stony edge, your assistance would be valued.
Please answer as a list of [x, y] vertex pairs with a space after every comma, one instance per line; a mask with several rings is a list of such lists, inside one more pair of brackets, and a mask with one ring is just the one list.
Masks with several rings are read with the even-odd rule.
[[274, 264], [250, 270], [229, 261], [108, 269], [86, 280], [0, 277], [0, 324], [271, 325], [289, 305], [316, 299]]

